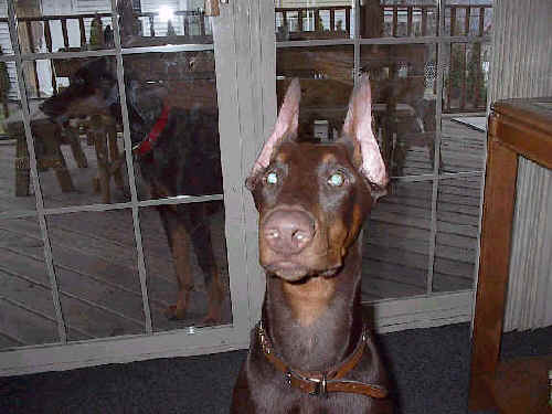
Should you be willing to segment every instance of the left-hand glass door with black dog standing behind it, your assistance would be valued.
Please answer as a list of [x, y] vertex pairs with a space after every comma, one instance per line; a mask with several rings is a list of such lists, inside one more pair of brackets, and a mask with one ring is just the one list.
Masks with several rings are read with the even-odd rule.
[[0, 374], [247, 347], [234, 8], [0, 13]]

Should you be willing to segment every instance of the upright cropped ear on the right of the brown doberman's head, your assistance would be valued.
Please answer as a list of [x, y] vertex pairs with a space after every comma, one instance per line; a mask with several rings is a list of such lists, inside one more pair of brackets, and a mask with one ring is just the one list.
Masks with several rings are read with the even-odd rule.
[[[353, 161], [360, 173], [372, 185], [372, 190], [383, 190], [384, 194], [389, 178], [372, 131], [372, 92], [368, 76], [362, 76], [352, 92], [341, 140], [349, 141], [348, 144], [354, 148]], [[378, 191], [372, 191], [372, 194], [382, 195], [378, 194]]]

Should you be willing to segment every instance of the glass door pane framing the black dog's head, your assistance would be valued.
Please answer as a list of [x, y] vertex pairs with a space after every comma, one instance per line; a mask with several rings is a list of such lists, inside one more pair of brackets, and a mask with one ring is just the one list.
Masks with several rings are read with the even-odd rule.
[[23, 73], [45, 206], [128, 201], [115, 59], [23, 62]]

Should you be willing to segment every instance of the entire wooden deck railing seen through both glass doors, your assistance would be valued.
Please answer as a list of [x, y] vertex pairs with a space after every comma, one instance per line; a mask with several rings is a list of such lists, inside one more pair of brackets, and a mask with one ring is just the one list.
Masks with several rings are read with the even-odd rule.
[[[484, 36], [487, 34], [487, 15], [491, 6], [447, 6], [445, 35], [450, 36]], [[374, 11], [373, 8], [361, 7], [359, 33], [363, 38], [373, 36], [427, 36], [437, 35], [437, 22], [439, 21], [438, 8], [432, 4], [390, 4], [381, 6], [380, 11]], [[312, 40], [312, 39], [351, 39], [353, 13], [350, 6], [343, 7], [308, 7], [308, 8], [276, 8], [276, 30], [277, 40]], [[197, 42], [202, 39], [202, 42], [212, 42], [212, 35], [208, 34], [206, 17], [197, 11], [177, 11], [176, 15], [183, 17], [182, 22], [173, 22], [182, 24], [179, 31], [180, 35], [171, 36], [171, 42], [189, 43]], [[140, 41], [144, 45], [156, 45], [153, 41], [163, 42], [156, 33], [155, 20], [158, 13], [146, 12], [137, 13], [136, 18], [149, 21], [149, 36], [142, 33]], [[81, 47], [89, 42], [86, 33], [86, 19], [96, 17], [110, 18], [110, 13], [88, 13], [88, 14], [63, 14], [63, 15], [42, 15], [42, 17], [21, 17], [18, 18], [20, 24], [19, 33], [24, 35], [25, 41], [21, 42], [23, 53], [38, 52], [40, 41], [34, 39], [38, 35], [36, 25], [32, 23], [41, 23], [39, 30], [43, 31], [43, 39], [47, 52], [54, 51], [52, 41], [52, 24], [59, 22], [61, 24], [62, 41], [65, 50], [68, 50], [70, 32], [67, 22], [76, 20], [78, 22], [79, 43]], [[0, 19], [0, 21], [7, 19]], [[340, 23], [341, 22], [341, 23]], [[378, 29], [379, 25], [379, 29]], [[374, 30], [374, 26], [376, 28]], [[192, 33], [197, 33], [193, 35]], [[88, 34], [89, 38], [89, 34]], [[193, 40], [192, 40], [193, 38]], [[148, 43], [148, 39], [151, 41]], [[481, 84], [481, 60], [480, 53], [474, 59], [467, 59], [466, 45], [456, 46], [464, 49], [464, 57], [458, 59], [454, 55], [454, 47], [450, 47], [448, 56], [450, 71], [448, 77], [445, 78], [445, 112], [456, 110], [473, 110], [485, 107], [484, 91]], [[475, 50], [474, 47], [473, 50]], [[477, 51], [476, 51], [477, 52]], [[476, 70], [476, 74], [470, 73]], [[34, 71], [35, 72], [35, 71]], [[468, 75], [466, 75], [468, 74]], [[469, 77], [469, 79], [468, 79]], [[474, 81], [475, 79], [475, 81]], [[38, 84], [38, 76], [35, 76]], [[55, 85], [53, 76], [52, 82]], [[475, 89], [468, 91], [469, 85], [476, 84]]]

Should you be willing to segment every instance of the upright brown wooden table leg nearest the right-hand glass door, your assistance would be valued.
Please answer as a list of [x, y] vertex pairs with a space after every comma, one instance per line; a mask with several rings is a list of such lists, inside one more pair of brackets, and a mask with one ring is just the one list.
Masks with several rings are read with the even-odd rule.
[[510, 262], [518, 155], [502, 146], [489, 123], [481, 250], [474, 317], [470, 410], [496, 406], [492, 382], [500, 352]]

